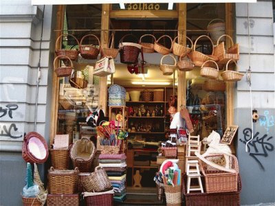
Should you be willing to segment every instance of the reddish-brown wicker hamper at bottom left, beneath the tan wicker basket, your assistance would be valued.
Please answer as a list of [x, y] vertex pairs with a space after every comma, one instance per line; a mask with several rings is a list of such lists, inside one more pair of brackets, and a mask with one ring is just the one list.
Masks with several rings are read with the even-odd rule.
[[78, 194], [48, 194], [47, 206], [78, 206]]

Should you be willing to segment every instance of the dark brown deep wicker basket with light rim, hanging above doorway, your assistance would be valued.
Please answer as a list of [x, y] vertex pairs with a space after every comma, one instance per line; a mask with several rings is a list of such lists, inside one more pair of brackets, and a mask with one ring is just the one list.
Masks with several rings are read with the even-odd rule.
[[120, 62], [126, 65], [135, 65], [140, 55], [142, 46], [138, 43], [124, 43], [123, 40], [126, 36], [133, 36], [138, 42], [137, 37], [133, 34], [126, 34], [120, 39]]

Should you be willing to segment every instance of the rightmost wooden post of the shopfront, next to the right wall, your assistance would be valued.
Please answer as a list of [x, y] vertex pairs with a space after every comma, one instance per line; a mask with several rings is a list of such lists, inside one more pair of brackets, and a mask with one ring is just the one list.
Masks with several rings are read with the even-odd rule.
[[[233, 36], [233, 5], [225, 3], [225, 30], [226, 34]], [[229, 45], [228, 43], [226, 45]], [[234, 82], [226, 82], [226, 124], [234, 123]]]

